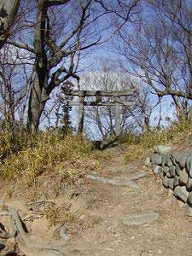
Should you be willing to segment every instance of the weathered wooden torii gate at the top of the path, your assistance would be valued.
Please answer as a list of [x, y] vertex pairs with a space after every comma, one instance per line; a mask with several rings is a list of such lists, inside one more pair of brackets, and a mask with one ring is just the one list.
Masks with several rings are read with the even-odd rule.
[[[79, 101], [69, 101], [70, 106], [79, 107], [79, 132], [84, 131], [84, 107], [85, 106], [114, 106], [115, 109], [115, 133], [120, 135], [120, 106], [131, 107], [132, 101], [121, 101], [120, 96], [133, 96], [135, 89], [131, 90], [71, 90], [65, 91], [67, 96], [79, 96]], [[95, 96], [96, 101], [85, 102], [85, 96]], [[113, 101], [102, 102], [103, 96], [112, 97]]]

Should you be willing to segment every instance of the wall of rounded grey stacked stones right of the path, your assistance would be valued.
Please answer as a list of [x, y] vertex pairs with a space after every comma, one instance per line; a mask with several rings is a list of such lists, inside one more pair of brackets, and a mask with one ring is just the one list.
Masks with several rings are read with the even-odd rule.
[[172, 152], [171, 147], [158, 146], [144, 165], [162, 179], [163, 185], [173, 190], [173, 195], [183, 201], [185, 212], [192, 216], [192, 151]]

